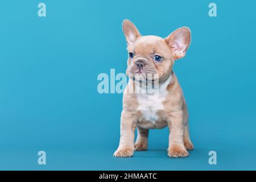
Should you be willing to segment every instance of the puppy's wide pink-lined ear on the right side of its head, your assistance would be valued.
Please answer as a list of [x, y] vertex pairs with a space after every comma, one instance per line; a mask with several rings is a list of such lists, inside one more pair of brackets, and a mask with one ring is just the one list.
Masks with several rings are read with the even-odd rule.
[[184, 57], [191, 42], [191, 31], [181, 27], [172, 32], [166, 39], [175, 59]]

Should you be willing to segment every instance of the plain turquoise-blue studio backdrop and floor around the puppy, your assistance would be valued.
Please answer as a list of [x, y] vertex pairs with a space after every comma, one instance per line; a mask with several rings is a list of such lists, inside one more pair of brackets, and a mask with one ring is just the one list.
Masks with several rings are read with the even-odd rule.
[[[209, 17], [210, 2], [2, 2], [0, 169], [256, 169], [256, 2], [214, 0], [217, 17]], [[99, 94], [97, 76], [125, 72], [123, 19], [143, 35], [191, 28], [174, 67], [195, 144], [188, 158], [167, 157], [167, 129], [150, 131], [148, 151], [112, 156], [122, 94]], [[208, 163], [211, 150], [217, 165]]]

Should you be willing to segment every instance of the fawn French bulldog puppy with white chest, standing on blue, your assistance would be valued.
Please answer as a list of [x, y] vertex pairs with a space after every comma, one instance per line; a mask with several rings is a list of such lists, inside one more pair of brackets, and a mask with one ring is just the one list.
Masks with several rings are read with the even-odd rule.
[[[193, 149], [189, 138], [188, 109], [173, 65], [175, 60], [185, 56], [191, 43], [191, 31], [181, 27], [163, 39], [142, 36], [129, 20], [124, 20], [122, 26], [129, 53], [126, 75], [130, 79], [123, 93], [121, 137], [114, 156], [130, 157], [134, 150], [147, 150], [148, 130], [166, 126], [170, 130], [168, 156], [188, 156], [187, 150]], [[158, 76], [147, 78], [150, 74]], [[150, 98], [147, 92], [130, 92], [137, 82], [139, 86], [143, 82], [137, 80], [136, 75], [146, 75], [146, 82], [153, 82], [151, 86], [146, 84], [146, 88], [157, 89], [156, 98]], [[136, 127], [138, 137], [134, 144]]]

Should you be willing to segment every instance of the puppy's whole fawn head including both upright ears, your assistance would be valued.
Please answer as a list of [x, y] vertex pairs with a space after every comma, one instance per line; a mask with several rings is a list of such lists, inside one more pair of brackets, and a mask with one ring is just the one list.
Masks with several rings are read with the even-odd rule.
[[186, 27], [172, 32], [166, 39], [158, 36], [141, 36], [129, 20], [123, 21], [128, 61], [126, 74], [134, 80], [136, 76], [147, 80], [166, 80], [172, 72], [176, 59], [185, 55], [190, 41], [190, 30]]

